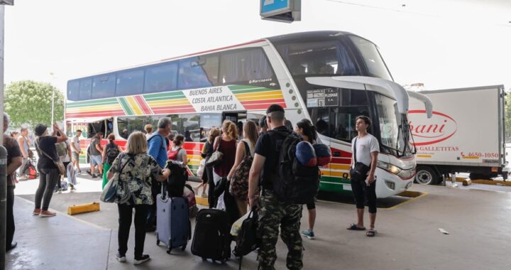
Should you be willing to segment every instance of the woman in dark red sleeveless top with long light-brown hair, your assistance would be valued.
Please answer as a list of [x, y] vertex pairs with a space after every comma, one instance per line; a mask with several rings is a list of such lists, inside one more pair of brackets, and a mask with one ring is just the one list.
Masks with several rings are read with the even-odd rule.
[[[213, 144], [213, 148], [215, 150], [224, 153], [222, 161], [213, 167], [213, 180], [215, 185], [222, 177], [229, 175], [229, 172], [234, 165], [234, 160], [236, 159], [236, 138], [238, 138], [238, 129], [236, 128], [236, 124], [229, 120], [224, 121], [224, 124], [222, 124], [222, 134], [215, 138]], [[219, 196], [216, 208], [222, 210], [226, 208], [224, 203], [224, 193]]]

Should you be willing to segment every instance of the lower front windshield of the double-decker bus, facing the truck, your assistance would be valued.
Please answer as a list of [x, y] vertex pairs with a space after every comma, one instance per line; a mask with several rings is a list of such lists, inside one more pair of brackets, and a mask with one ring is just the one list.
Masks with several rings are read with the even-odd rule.
[[383, 150], [396, 156], [412, 156], [410, 127], [406, 114], [400, 114], [397, 102], [390, 97], [375, 94], [375, 102]]

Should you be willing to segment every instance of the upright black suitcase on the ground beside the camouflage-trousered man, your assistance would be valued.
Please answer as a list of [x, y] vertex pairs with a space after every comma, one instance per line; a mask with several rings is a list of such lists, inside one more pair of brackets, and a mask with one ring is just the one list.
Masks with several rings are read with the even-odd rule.
[[192, 254], [202, 260], [224, 264], [231, 257], [231, 226], [225, 211], [202, 209], [197, 214], [192, 241]]

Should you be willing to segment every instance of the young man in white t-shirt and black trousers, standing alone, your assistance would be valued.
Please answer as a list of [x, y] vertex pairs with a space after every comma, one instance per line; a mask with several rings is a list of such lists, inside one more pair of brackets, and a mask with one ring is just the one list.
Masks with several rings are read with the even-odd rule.
[[355, 197], [357, 222], [349, 225], [347, 229], [350, 230], [366, 230], [363, 225], [363, 213], [365, 199], [367, 198], [369, 208], [370, 228], [366, 235], [373, 237], [376, 234], [375, 220], [376, 220], [376, 178], [375, 169], [378, 162], [378, 153], [380, 152], [380, 145], [375, 136], [368, 134], [371, 121], [369, 117], [359, 116], [356, 117], [355, 128], [358, 136], [351, 141], [351, 168], [360, 162], [369, 167], [368, 173], [361, 177], [351, 176], [351, 190]]

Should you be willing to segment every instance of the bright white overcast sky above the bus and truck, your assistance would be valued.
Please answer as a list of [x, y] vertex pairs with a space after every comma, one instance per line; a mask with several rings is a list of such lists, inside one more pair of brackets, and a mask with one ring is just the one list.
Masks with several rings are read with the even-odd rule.
[[401, 85], [511, 90], [511, 1], [302, 0], [302, 21], [258, 0], [16, 0], [5, 8], [4, 80], [50, 82], [302, 31], [373, 41]]

